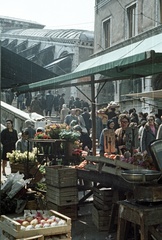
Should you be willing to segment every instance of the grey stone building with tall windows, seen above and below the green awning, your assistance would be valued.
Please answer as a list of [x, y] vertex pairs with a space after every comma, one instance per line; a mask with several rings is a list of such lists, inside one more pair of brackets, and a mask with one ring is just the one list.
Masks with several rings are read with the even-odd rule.
[[[94, 56], [120, 49], [162, 32], [161, 0], [96, 0]], [[159, 49], [159, 52], [162, 49]], [[121, 110], [135, 107], [162, 115], [160, 99], [128, 97], [127, 94], [162, 89], [162, 75], [107, 82], [98, 103], [120, 102]], [[101, 87], [98, 84], [98, 89]]]

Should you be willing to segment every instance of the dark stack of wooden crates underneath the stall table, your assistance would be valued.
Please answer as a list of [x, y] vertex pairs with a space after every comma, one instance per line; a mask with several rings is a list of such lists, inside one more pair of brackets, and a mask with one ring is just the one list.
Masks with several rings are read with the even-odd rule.
[[94, 188], [92, 221], [99, 231], [109, 230], [113, 190], [111, 188]]

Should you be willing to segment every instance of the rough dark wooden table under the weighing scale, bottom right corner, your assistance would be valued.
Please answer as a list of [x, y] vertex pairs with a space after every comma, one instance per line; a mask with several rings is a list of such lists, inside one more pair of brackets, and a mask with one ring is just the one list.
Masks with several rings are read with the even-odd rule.
[[[117, 240], [125, 240], [128, 225], [133, 223], [140, 228], [140, 239], [162, 239], [162, 233], [156, 230], [162, 224], [162, 204], [143, 205], [128, 201], [119, 202]], [[154, 236], [155, 238], [151, 237]]]

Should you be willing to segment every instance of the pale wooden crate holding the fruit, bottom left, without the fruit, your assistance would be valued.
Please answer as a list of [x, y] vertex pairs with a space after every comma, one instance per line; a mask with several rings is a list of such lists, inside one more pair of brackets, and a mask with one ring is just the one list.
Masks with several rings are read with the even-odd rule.
[[[33, 211], [34, 212], [34, 211]], [[35, 211], [36, 212], [36, 211]], [[39, 210], [39, 212], [42, 212]], [[29, 238], [34, 237], [37, 235], [43, 235], [44, 238], [46, 236], [55, 236], [55, 235], [67, 235], [68, 237], [66, 239], [71, 239], [71, 219], [61, 213], [58, 213], [54, 210], [48, 211], [49, 214], [52, 216], [59, 217], [63, 220], [65, 220], [66, 224], [62, 226], [56, 226], [56, 227], [48, 227], [48, 228], [39, 228], [39, 229], [32, 229], [32, 230], [21, 230], [21, 224], [14, 221], [12, 218], [7, 217], [6, 215], [1, 215], [0, 219], [0, 228], [2, 231], [7, 232], [14, 238]]]

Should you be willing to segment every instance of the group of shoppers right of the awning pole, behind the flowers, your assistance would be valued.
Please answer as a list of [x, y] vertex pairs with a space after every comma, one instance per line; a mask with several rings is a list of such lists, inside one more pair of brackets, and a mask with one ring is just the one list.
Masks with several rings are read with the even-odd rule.
[[[158, 120], [158, 121], [157, 121]], [[143, 156], [150, 156], [150, 144], [156, 139], [162, 138], [162, 121], [156, 115], [136, 113], [135, 109], [130, 109], [119, 115], [119, 127], [115, 128], [114, 117], [108, 120], [107, 128], [110, 128], [110, 121], [115, 135], [116, 153], [123, 154], [133, 149], [138, 150]], [[100, 135], [100, 153], [103, 154], [104, 143], [103, 133]]]

